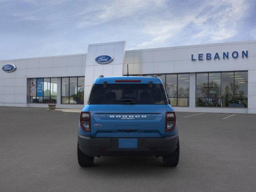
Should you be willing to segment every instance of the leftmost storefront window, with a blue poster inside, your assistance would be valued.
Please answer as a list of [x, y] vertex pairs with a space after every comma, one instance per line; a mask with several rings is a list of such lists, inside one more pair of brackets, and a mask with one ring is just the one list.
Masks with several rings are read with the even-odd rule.
[[31, 78], [30, 103], [56, 103], [57, 78]]

